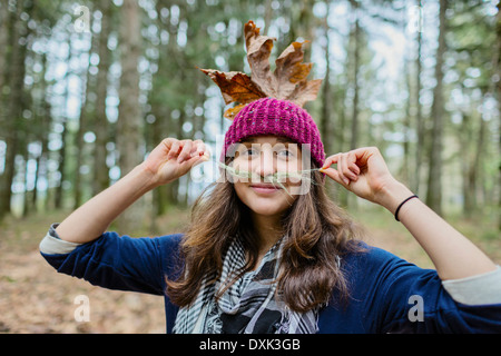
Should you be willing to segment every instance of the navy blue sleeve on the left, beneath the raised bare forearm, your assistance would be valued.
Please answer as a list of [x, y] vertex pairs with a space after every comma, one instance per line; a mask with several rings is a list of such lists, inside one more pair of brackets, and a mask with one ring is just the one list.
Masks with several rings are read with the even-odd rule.
[[70, 254], [41, 254], [59, 273], [118, 290], [164, 295], [174, 273], [180, 235], [131, 238], [105, 233]]

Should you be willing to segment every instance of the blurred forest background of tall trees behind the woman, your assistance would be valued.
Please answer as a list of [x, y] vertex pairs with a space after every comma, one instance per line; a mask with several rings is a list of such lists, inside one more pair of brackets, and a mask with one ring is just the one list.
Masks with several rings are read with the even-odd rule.
[[[217, 177], [230, 123], [196, 67], [250, 73], [248, 20], [276, 38], [275, 57], [310, 41], [311, 79], [323, 83], [307, 109], [327, 155], [377, 146], [394, 176], [501, 260], [499, 1], [0, 0], [0, 332], [68, 330], [12, 308], [12, 294], [43, 278], [30, 269], [41, 268], [36, 246], [165, 137], [203, 139], [213, 161], [147, 194], [112, 228], [156, 236], [186, 226], [190, 202]], [[387, 214], [328, 189], [382, 240], [410, 250]], [[102, 323], [97, 330], [117, 325]]]

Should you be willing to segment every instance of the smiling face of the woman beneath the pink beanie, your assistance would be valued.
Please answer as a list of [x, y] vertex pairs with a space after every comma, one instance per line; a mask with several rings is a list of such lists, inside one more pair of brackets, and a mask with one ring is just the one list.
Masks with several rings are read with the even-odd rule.
[[[294, 187], [297, 189], [301, 180], [285, 176], [302, 170], [302, 151], [297, 144], [276, 136], [247, 138], [237, 147], [233, 167], [253, 174], [252, 179], [234, 180], [238, 198], [253, 212], [281, 215], [297, 199]], [[269, 182], [275, 174], [279, 184]]]

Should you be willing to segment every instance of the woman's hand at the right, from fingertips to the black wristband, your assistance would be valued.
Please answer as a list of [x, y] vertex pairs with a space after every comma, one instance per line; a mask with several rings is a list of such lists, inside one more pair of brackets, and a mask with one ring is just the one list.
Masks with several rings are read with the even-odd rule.
[[[336, 168], [331, 166], [336, 164]], [[321, 171], [356, 196], [393, 210], [390, 192], [402, 185], [393, 178], [380, 150], [364, 147], [327, 157]], [[410, 191], [405, 188], [406, 191]], [[405, 192], [407, 194], [407, 192]], [[393, 200], [393, 199], [392, 199]]]

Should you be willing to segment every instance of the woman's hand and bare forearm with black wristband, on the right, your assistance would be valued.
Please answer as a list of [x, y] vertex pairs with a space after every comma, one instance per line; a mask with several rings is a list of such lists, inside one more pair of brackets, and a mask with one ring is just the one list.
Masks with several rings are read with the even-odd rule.
[[[337, 167], [331, 168], [334, 164]], [[382, 205], [392, 214], [412, 195], [407, 187], [392, 177], [375, 147], [331, 156], [321, 171], [358, 197]], [[419, 199], [404, 205], [399, 216], [430, 256], [442, 280], [495, 270], [495, 264], [481, 249]], [[465, 264], [465, 260], [469, 263]]]

